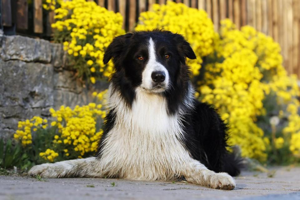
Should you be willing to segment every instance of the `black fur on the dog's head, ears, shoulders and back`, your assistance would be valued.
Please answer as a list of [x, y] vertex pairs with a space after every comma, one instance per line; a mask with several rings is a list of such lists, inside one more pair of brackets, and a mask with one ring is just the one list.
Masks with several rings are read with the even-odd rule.
[[[215, 172], [239, 174], [238, 160], [226, 150], [227, 127], [212, 106], [192, 100], [193, 109], [186, 105], [190, 85], [190, 71], [186, 58], [196, 56], [183, 36], [168, 31], [128, 33], [116, 37], [104, 54], [104, 64], [113, 58], [116, 72], [112, 75], [114, 90], [119, 90], [128, 107], [135, 99], [135, 88], [142, 82], [142, 72], [147, 61], [149, 38], [155, 40], [158, 59], [168, 53], [171, 59], [160, 59], [170, 75], [172, 87], [162, 93], [168, 102], [168, 114], [174, 115], [184, 111], [182, 124], [186, 137], [181, 141], [192, 157]], [[161, 54], [161, 55], [160, 55]], [[145, 56], [145, 61], [137, 60], [138, 55]], [[110, 110], [106, 117], [104, 134], [98, 152], [101, 152], [102, 141], [114, 125], [115, 113]], [[100, 156], [100, 154], [98, 154]]]

